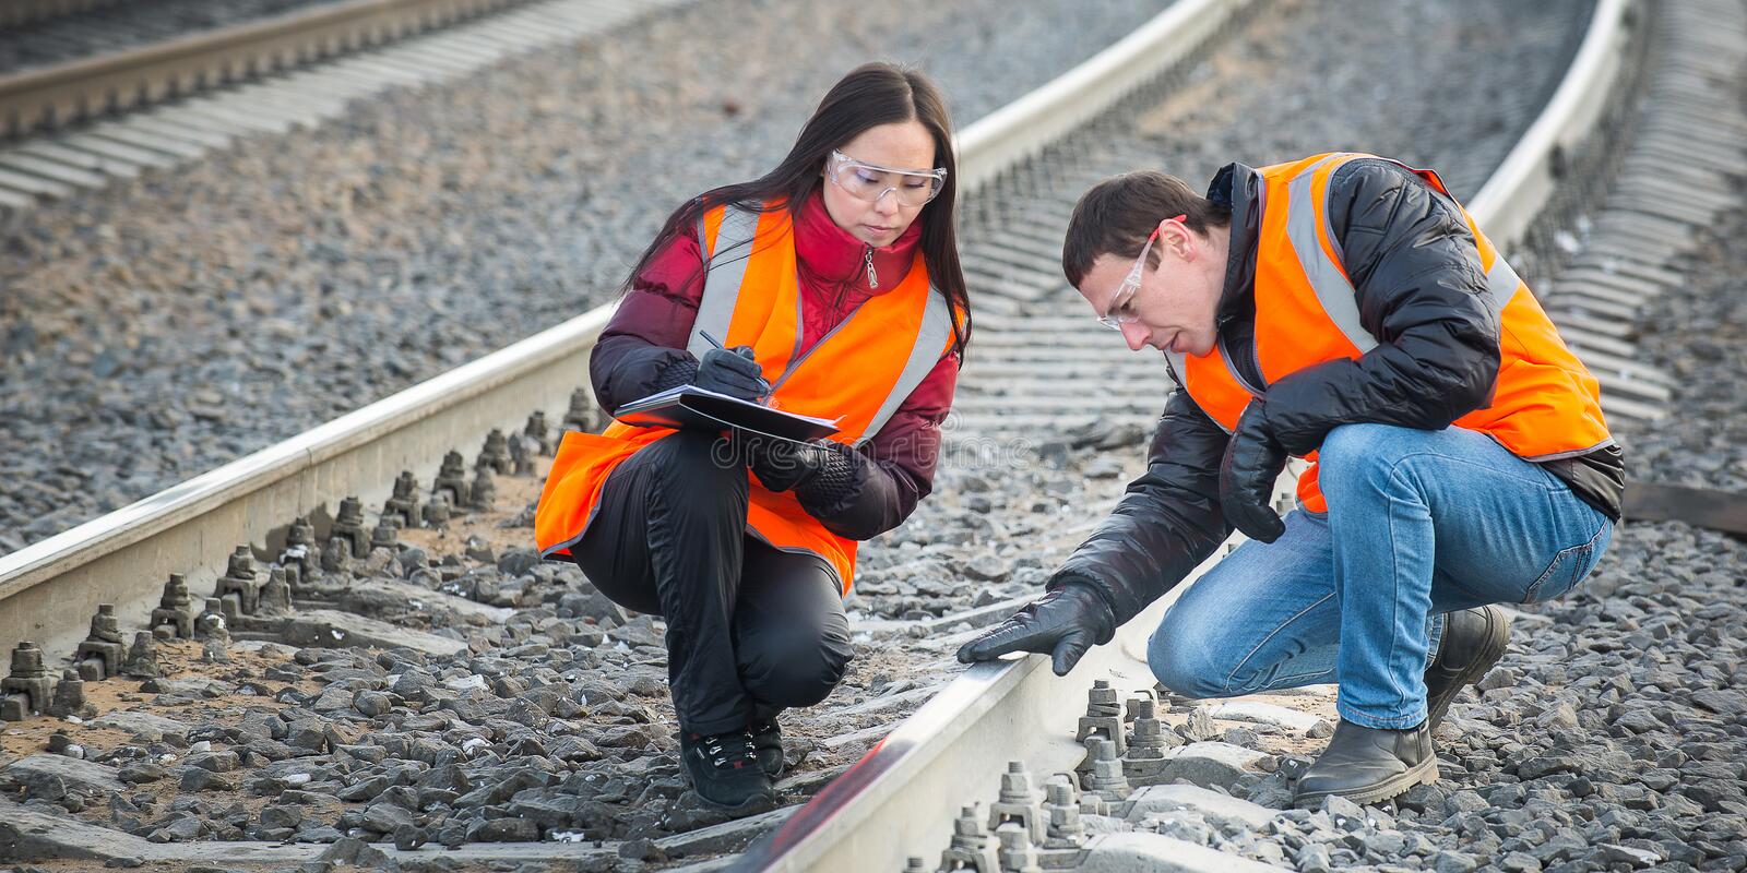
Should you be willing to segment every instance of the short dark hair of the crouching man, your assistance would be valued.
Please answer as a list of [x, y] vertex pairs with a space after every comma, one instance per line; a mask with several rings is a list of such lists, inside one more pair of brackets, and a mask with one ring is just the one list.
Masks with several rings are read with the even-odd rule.
[[[1184, 215], [1183, 223], [1197, 234], [1232, 223], [1230, 206], [1195, 194], [1177, 176], [1143, 169], [1099, 182], [1080, 197], [1067, 222], [1067, 241], [1062, 244], [1067, 283], [1078, 288], [1092, 272], [1092, 262], [1102, 255], [1139, 255], [1158, 222], [1176, 215]], [[1150, 260], [1157, 264], [1158, 251]]]

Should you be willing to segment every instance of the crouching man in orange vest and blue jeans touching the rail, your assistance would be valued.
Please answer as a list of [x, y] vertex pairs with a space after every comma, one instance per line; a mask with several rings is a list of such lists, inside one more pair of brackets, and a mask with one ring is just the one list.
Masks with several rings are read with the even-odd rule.
[[[1508, 615], [1590, 571], [1619, 519], [1597, 382], [1431, 171], [1361, 154], [1094, 187], [1069, 283], [1179, 391], [1146, 473], [1046, 594], [959, 660], [1066, 674], [1237, 527], [1249, 536], [1153, 632], [1188, 697], [1338, 683], [1296, 803], [1438, 779], [1433, 730], [1502, 656]], [[1298, 510], [1268, 506], [1288, 456]]]

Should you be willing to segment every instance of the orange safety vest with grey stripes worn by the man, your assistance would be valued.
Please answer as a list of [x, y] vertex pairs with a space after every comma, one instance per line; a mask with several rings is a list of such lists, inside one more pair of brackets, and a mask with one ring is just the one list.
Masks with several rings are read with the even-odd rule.
[[[1378, 346], [1359, 325], [1359, 302], [1329, 236], [1328, 187], [1347, 161], [1375, 157], [1331, 152], [1258, 169], [1263, 183], [1256, 244], [1256, 363], [1265, 382], [1338, 358], [1357, 358]], [[1406, 168], [1406, 164], [1401, 164]], [[1413, 169], [1438, 196], [1462, 211], [1480, 248], [1480, 267], [1499, 316], [1499, 375], [1492, 403], [1460, 419], [1457, 428], [1480, 431], [1527, 461], [1550, 461], [1612, 443], [1602, 419], [1600, 386], [1565, 342], [1516, 271], [1499, 255], [1474, 218], [1455, 203], [1431, 169]], [[1216, 344], [1204, 356], [1165, 353], [1172, 377], [1228, 433], [1260, 396], [1246, 386]], [[1298, 503], [1328, 512], [1317, 487], [1315, 452], [1298, 477]]]

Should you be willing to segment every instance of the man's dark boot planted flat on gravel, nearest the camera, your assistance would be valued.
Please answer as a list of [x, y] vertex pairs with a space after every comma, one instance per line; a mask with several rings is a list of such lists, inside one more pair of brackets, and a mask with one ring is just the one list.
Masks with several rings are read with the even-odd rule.
[[1438, 756], [1424, 723], [1408, 730], [1335, 725], [1328, 749], [1298, 777], [1295, 807], [1315, 807], [1329, 794], [1354, 803], [1382, 803], [1403, 791], [1438, 780]]

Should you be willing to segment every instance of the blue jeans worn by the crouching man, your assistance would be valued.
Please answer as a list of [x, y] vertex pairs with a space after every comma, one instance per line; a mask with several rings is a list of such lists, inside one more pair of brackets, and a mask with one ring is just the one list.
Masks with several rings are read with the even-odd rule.
[[1443, 613], [1551, 601], [1581, 581], [1612, 522], [1476, 431], [1345, 424], [1319, 454], [1328, 513], [1286, 515], [1190, 585], [1148, 643], [1186, 697], [1338, 683], [1340, 718], [1426, 721]]

